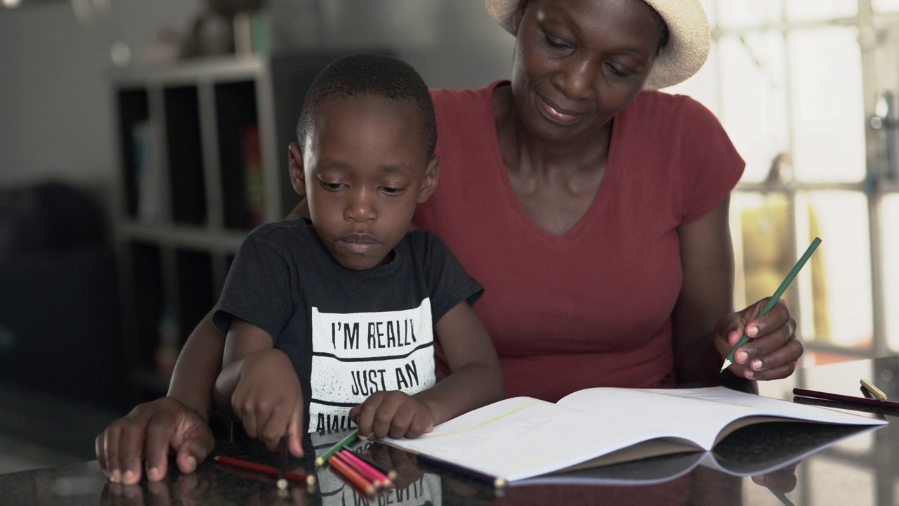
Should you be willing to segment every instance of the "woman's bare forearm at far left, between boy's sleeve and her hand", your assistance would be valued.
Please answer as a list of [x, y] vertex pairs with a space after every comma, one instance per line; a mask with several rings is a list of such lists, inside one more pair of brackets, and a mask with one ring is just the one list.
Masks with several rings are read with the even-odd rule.
[[209, 312], [191, 332], [175, 363], [168, 396], [209, 420], [212, 390], [222, 367], [225, 334], [212, 323]]

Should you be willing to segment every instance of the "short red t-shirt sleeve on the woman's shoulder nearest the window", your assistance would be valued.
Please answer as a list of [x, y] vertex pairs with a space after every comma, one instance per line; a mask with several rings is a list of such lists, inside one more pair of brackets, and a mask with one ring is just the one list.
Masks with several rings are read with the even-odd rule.
[[681, 222], [690, 223], [730, 194], [746, 164], [721, 122], [704, 105], [684, 97], [681, 122]]

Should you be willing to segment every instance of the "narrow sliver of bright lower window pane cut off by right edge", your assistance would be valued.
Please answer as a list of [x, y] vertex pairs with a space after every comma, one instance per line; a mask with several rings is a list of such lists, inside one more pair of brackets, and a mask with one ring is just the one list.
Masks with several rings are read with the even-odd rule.
[[883, 258], [884, 307], [886, 307], [886, 342], [899, 351], [899, 195], [891, 194], [883, 200]]

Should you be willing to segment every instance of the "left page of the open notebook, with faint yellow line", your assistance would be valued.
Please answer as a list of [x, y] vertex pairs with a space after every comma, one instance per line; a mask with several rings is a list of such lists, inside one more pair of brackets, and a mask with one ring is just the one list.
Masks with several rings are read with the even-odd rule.
[[469, 411], [401, 447], [509, 481], [546, 474], [668, 431], [517, 397]]

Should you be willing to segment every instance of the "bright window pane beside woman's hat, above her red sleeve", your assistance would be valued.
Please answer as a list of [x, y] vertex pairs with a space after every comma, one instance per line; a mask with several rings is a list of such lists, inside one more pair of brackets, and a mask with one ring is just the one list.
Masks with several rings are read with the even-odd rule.
[[761, 32], [720, 41], [725, 130], [746, 160], [743, 181], [761, 181], [789, 149], [784, 39]]

